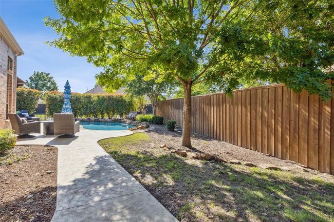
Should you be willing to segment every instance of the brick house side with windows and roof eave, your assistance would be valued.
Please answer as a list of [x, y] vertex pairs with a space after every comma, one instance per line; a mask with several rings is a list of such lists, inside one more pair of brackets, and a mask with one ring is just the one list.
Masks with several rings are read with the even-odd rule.
[[0, 129], [10, 127], [6, 113], [16, 112], [16, 58], [23, 51], [0, 17]]

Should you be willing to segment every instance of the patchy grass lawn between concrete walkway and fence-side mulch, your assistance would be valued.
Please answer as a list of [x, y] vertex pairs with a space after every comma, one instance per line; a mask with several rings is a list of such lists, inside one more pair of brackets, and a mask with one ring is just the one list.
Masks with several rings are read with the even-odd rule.
[[331, 181], [183, 158], [159, 148], [153, 133], [100, 145], [182, 222], [334, 221]]

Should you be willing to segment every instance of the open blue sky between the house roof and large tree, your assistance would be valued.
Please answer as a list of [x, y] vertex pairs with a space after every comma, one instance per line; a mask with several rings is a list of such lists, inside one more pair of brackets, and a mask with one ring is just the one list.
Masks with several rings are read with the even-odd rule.
[[49, 72], [60, 91], [68, 79], [72, 92], [86, 92], [94, 87], [94, 76], [101, 69], [84, 57], [72, 57], [46, 45], [57, 37], [44, 25], [47, 15], [59, 17], [52, 0], [0, 0], [0, 16], [25, 53], [17, 58], [17, 76], [26, 80], [33, 71]]

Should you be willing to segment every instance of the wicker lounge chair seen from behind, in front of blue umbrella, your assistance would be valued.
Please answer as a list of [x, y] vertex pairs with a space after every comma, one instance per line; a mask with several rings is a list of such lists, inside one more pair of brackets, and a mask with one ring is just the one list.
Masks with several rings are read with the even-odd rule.
[[54, 135], [60, 135], [59, 138], [75, 137], [74, 134], [80, 131], [80, 122], [75, 122], [72, 113], [54, 113], [53, 114]]

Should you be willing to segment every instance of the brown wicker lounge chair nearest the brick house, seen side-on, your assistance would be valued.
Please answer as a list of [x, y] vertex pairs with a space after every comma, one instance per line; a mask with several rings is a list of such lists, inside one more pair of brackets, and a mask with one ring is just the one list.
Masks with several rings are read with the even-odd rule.
[[16, 113], [7, 113], [7, 116], [12, 129], [18, 135], [17, 138], [35, 137], [29, 133], [41, 133], [41, 122], [22, 123], [22, 119]]

